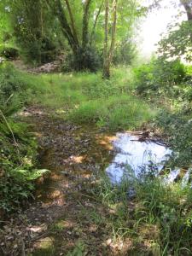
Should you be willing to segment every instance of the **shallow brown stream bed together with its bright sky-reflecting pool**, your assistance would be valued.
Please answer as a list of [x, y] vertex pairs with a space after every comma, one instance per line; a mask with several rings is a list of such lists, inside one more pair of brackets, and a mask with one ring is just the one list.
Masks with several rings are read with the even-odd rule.
[[[33, 124], [40, 166], [50, 172], [38, 179], [35, 201], [14, 222], [11, 220], [3, 226], [3, 252], [22, 255], [25, 244], [27, 255], [36, 251], [34, 255], [41, 252], [48, 255], [49, 249], [54, 250], [49, 255], [68, 255], [81, 238], [90, 241], [86, 244], [89, 255], [92, 252], [119, 255], [116, 244], [115, 247], [107, 244], [110, 225], [106, 225], [106, 220], [113, 212], [92, 196], [97, 175], [106, 165], [113, 184], [119, 184], [124, 177], [129, 181], [140, 178], [143, 172], [162, 175], [172, 150], [155, 142], [150, 134], [149, 137], [143, 137], [143, 132], [115, 135], [95, 126], [73, 125], [47, 108], [33, 106], [21, 116]], [[190, 171], [182, 169], [167, 172], [162, 179], [172, 182], [179, 176], [183, 183], [189, 183]], [[134, 186], [129, 187], [129, 198], [134, 193]], [[119, 244], [121, 248], [121, 241]], [[15, 254], [10, 253], [13, 251]]]

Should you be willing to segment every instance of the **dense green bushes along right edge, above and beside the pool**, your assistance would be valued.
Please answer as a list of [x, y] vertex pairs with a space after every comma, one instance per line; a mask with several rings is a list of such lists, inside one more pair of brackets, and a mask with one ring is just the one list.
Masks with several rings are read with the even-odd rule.
[[162, 58], [137, 67], [136, 91], [162, 109], [155, 123], [166, 135], [172, 146], [172, 163], [176, 166], [191, 165], [192, 77], [191, 67], [180, 61]]

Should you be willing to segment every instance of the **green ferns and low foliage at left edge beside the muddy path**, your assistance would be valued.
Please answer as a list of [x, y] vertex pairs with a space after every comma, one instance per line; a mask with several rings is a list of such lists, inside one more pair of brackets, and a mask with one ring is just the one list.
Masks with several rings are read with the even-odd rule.
[[37, 143], [26, 128], [10, 117], [5, 122], [0, 113], [0, 208], [4, 212], [17, 210], [32, 196], [34, 180], [47, 172], [35, 168]]

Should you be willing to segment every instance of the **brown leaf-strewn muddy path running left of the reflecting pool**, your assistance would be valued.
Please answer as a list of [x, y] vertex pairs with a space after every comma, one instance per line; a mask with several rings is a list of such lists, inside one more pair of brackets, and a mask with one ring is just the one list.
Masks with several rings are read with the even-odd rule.
[[113, 157], [113, 137], [69, 124], [45, 108], [22, 115], [38, 137], [41, 168], [51, 172], [38, 181], [36, 200], [4, 225], [3, 254], [115, 255], [108, 244], [111, 213], [90, 195], [96, 175]]

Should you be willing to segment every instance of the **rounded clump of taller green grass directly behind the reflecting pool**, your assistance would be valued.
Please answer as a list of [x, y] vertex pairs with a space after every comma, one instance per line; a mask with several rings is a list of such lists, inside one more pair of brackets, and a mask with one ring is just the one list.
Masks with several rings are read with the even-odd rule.
[[79, 124], [96, 123], [111, 130], [135, 129], [152, 118], [148, 106], [134, 96], [108, 96], [83, 102], [74, 108], [69, 119]]

